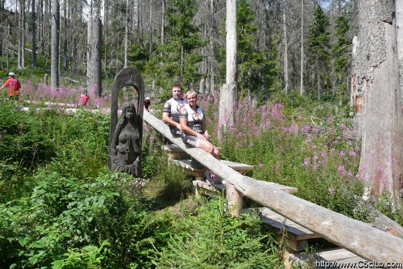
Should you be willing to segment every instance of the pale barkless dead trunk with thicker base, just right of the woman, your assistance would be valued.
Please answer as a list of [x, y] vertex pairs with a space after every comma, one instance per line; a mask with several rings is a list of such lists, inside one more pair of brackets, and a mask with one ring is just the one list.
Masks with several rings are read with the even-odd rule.
[[231, 128], [234, 125], [234, 101], [238, 90], [237, 68], [237, 3], [236, 0], [227, 0], [226, 17], [226, 84], [220, 91], [220, 115], [219, 124], [223, 128]]

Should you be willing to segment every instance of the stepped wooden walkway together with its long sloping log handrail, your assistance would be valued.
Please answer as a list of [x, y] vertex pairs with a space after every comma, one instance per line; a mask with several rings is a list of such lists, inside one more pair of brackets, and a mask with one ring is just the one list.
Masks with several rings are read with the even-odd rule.
[[[242, 196], [261, 204], [264, 222], [270, 224], [274, 230], [284, 227], [287, 229], [286, 243], [290, 249], [286, 253], [288, 258], [298, 258], [301, 254], [292, 252], [303, 249], [308, 239], [322, 237], [341, 247], [345, 261], [357, 261], [357, 259], [354, 260], [357, 255], [367, 261], [379, 262], [378, 265], [383, 264], [385, 267], [391, 266], [391, 263], [403, 262], [403, 239], [298, 198], [292, 195], [297, 191], [296, 188], [244, 176], [243, 172], [247, 170], [247, 167], [242, 167], [242, 164], [225, 163], [215, 159], [203, 149], [187, 148], [180, 138], [174, 138], [171, 135], [168, 126], [146, 111], [143, 120], [175, 145], [165, 149], [169, 151], [172, 162], [196, 177], [193, 182], [196, 191], [201, 188], [210, 191], [225, 188], [228, 204], [235, 206], [233, 213], [237, 216], [242, 212]], [[184, 156], [183, 154], [191, 156], [220, 176], [227, 182], [226, 185], [209, 186], [201, 178], [201, 170], [192, 167], [188, 161], [180, 159]], [[330, 260], [330, 257], [334, 255], [333, 252], [328, 250], [322, 253], [322, 257], [325, 256], [325, 260]], [[340, 255], [340, 251], [338, 253]]]

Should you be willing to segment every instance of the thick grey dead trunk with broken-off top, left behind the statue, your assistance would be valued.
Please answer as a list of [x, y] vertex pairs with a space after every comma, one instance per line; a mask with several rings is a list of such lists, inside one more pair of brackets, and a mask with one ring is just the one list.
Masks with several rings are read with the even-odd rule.
[[88, 20], [87, 88], [90, 90], [96, 87], [98, 96], [101, 96], [102, 93], [101, 36], [101, 20], [99, 16], [93, 15]]

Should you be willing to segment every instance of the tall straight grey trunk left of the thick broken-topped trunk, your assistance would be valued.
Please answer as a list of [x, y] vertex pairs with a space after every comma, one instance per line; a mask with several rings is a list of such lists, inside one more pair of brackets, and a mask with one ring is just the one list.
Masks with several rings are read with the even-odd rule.
[[51, 17], [51, 40], [50, 40], [50, 87], [59, 88], [59, 43], [60, 43], [60, 2], [52, 0]]

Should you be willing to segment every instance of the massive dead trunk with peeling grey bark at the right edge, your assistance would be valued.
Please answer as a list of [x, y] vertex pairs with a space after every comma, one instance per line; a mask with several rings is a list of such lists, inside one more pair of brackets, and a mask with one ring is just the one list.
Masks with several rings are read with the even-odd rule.
[[[394, 0], [360, 0], [356, 76], [363, 94], [360, 168], [364, 198], [383, 192], [399, 198], [403, 178], [403, 114], [394, 22]], [[368, 18], [371, 18], [370, 20]]]

